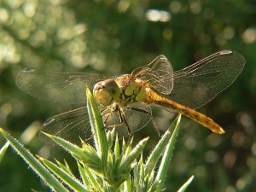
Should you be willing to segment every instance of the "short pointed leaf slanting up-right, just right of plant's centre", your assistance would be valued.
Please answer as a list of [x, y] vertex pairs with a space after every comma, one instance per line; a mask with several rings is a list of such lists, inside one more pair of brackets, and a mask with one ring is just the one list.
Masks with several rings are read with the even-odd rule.
[[119, 166], [119, 172], [127, 170], [131, 166], [131, 163], [137, 158], [137, 156], [143, 151], [146, 143], [148, 142], [148, 137], [144, 138], [142, 141], [137, 143], [137, 146], [131, 150], [130, 154], [127, 154], [124, 160], [122, 160]]

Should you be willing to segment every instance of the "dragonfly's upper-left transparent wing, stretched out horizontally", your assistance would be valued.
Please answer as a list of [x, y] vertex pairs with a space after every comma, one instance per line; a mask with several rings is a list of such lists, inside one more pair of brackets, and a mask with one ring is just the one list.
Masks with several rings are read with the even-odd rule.
[[25, 69], [16, 77], [16, 84], [31, 96], [51, 102], [85, 103], [85, 85], [90, 88], [106, 79], [95, 73], [61, 73]]

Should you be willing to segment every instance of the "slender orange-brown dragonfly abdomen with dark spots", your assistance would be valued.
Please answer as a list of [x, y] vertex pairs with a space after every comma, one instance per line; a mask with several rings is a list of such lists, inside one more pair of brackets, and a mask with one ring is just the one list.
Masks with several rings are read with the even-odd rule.
[[207, 127], [212, 132], [215, 132], [218, 134], [224, 133], [224, 130], [221, 128], [221, 126], [218, 125], [216, 122], [214, 122], [212, 119], [208, 118], [205, 114], [199, 113], [192, 108], [187, 108], [177, 102], [173, 102], [172, 100], [159, 96], [158, 94], [154, 93], [154, 91], [151, 91], [151, 92], [152, 93], [150, 93], [150, 96], [149, 96], [151, 103], [160, 105], [165, 108], [171, 108], [177, 113], [182, 113], [184, 116], [188, 117], [189, 119], [192, 119], [195, 122]]

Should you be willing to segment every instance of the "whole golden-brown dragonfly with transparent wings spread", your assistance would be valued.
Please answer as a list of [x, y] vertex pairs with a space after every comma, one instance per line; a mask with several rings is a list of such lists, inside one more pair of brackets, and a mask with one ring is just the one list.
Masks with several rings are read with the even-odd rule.
[[220, 125], [195, 109], [230, 86], [244, 65], [241, 54], [227, 49], [176, 72], [166, 56], [159, 55], [130, 74], [113, 77], [24, 69], [18, 73], [16, 84], [39, 99], [83, 105], [43, 124], [43, 131], [71, 142], [91, 136], [86, 86], [93, 90], [104, 125], [109, 129], [116, 127], [119, 135], [131, 135], [153, 120], [153, 106], [181, 113], [212, 132], [223, 134]]

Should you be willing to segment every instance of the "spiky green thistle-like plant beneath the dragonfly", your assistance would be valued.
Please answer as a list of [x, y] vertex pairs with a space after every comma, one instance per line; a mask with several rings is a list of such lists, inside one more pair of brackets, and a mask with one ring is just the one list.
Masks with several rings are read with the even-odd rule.
[[[106, 133], [96, 102], [90, 90], [87, 89], [86, 92], [95, 147], [84, 143], [84, 141], [81, 141], [82, 147], [79, 147], [60, 137], [44, 133], [67, 150], [77, 161], [79, 177], [73, 174], [65, 160], [64, 164], [61, 164], [58, 160], [53, 163], [39, 156], [36, 158], [9, 133], [1, 128], [0, 133], [32, 170], [54, 191], [162, 191], [166, 180], [167, 167], [176, 142], [181, 115], [178, 115], [177, 119], [173, 121], [169, 130], [161, 137], [160, 142], [144, 162], [143, 148], [146, 146], [148, 138], [144, 138], [134, 148], [132, 148], [132, 139], [130, 143], [125, 143], [123, 139], [120, 146], [118, 136], [114, 136], [114, 130], [108, 131], [108, 134]], [[0, 150], [0, 159], [3, 158], [9, 143], [6, 143]], [[162, 158], [160, 159], [160, 157]], [[156, 169], [155, 166], [159, 160], [160, 166]], [[192, 179], [193, 176], [178, 189], [178, 192], [185, 191]]]

